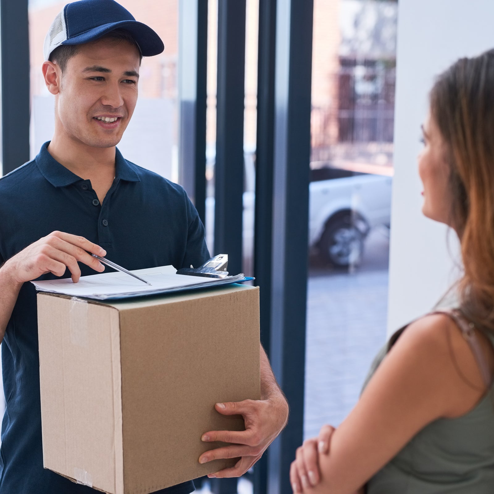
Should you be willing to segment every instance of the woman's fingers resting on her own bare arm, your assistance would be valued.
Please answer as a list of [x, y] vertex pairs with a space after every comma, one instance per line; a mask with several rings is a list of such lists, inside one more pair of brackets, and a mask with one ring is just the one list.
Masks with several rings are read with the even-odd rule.
[[290, 467], [290, 484], [294, 493], [306, 492], [319, 484], [321, 480], [319, 454], [329, 454], [329, 444], [334, 430], [331, 425], [323, 425], [318, 437], [306, 439], [297, 449], [295, 460]]

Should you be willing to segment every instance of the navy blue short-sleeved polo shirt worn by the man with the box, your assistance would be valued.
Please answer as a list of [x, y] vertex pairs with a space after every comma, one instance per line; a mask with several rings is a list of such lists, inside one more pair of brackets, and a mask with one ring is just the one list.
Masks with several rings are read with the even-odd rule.
[[[89, 180], [47, 151], [0, 179], [0, 265], [59, 230], [103, 247], [127, 269], [198, 266], [208, 257], [204, 226], [182, 187], [116, 151], [116, 176], [103, 204]], [[81, 264], [82, 276], [96, 274]], [[110, 270], [106, 267], [105, 271]], [[110, 270], [111, 271], [111, 270]], [[64, 277], [69, 277], [67, 270]], [[55, 279], [51, 273], [39, 280]], [[6, 411], [1, 427], [0, 494], [90, 494], [43, 469], [36, 290], [21, 288], [2, 347]], [[159, 491], [190, 493], [192, 482]]]

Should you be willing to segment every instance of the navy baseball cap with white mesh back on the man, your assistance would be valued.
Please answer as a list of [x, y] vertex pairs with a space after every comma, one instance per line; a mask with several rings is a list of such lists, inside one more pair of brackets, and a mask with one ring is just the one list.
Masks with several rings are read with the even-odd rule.
[[67, 3], [52, 22], [44, 39], [43, 55], [63, 44], [83, 44], [97, 40], [114, 29], [124, 29], [134, 38], [141, 55], [161, 53], [165, 46], [149, 26], [137, 22], [134, 16], [115, 0], [79, 0]]

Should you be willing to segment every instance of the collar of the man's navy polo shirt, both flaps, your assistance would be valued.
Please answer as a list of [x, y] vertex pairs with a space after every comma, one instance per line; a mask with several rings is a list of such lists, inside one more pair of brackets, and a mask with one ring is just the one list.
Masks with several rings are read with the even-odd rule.
[[[48, 152], [48, 144], [45, 142], [41, 146], [38, 156], [35, 158], [36, 164], [48, 182], [54, 187], [67, 187], [73, 183], [83, 180], [80, 176], [72, 173], [64, 165], [58, 163], [53, 156]], [[140, 182], [139, 176], [135, 170], [124, 159], [122, 153], [116, 149], [115, 151], [115, 178], [125, 180], [127, 182]]]

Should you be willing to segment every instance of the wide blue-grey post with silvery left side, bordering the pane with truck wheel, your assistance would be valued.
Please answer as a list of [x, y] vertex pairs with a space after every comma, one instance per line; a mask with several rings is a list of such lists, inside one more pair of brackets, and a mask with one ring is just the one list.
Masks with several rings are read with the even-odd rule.
[[291, 491], [289, 467], [303, 440], [312, 26], [313, 0], [278, 0], [271, 364], [290, 418], [271, 446], [270, 494]]

